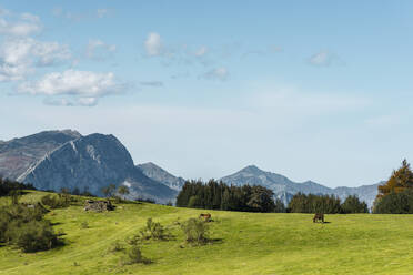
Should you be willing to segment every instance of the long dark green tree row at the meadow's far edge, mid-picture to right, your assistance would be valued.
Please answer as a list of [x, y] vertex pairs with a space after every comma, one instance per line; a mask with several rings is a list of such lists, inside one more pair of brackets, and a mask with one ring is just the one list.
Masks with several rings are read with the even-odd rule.
[[334, 195], [295, 194], [285, 206], [274, 193], [260, 185], [226, 185], [211, 180], [187, 181], [177, 197], [177, 206], [205, 210], [243, 212], [290, 212], [290, 213], [369, 213], [365, 202], [349, 196], [343, 203]]

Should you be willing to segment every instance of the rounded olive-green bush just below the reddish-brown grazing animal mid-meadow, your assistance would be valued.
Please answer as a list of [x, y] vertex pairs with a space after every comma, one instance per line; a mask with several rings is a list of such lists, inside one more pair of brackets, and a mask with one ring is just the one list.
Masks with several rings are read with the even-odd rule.
[[183, 234], [185, 235], [185, 242], [191, 244], [205, 244], [208, 238], [208, 225], [205, 222], [199, 218], [190, 218], [181, 224]]

